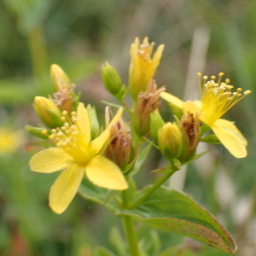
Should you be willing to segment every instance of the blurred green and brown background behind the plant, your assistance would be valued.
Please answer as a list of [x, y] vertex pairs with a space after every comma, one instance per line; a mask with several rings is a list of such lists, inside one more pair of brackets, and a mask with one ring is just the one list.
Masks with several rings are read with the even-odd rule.
[[[235, 88], [252, 90], [225, 115], [247, 137], [247, 158], [234, 159], [223, 146], [213, 145], [209, 154], [167, 185], [183, 189], [211, 211], [235, 237], [237, 255], [256, 255], [255, 1], [0, 0], [0, 35], [0, 127], [19, 131], [15, 145], [22, 144], [12, 152], [0, 148], [0, 255], [89, 256], [97, 245], [119, 255], [113, 237], [109, 239], [112, 225], [121, 224], [112, 212], [79, 195], [60, 216], [51, 212], [49, 188], [58, 173], [30, 172], [27, 162], [32, 154], [27, 151], [35, 148], [29, 143], [32, 137], [20, 130], [40, 123], [32, 101], [53, 92], [52, 63], [66, 71], [85, 104], [96, 105], [103, 124], [101, 101], [111, 102], [113, 97], [101, 81], [102, 63], [109, 61], [127, 84], [130, 45], [135, 37], [145, 36], [166, 45], [154, 78], [175, 96], [199, 97], [197, 72], [224, 72]], [[164, 102], [162, 113], [170, 119]], [[158, 178], [150, 172], [160, 154], [151, 154], [137, 175], [139, 187]], [[146, 234], [143, 228], [138, 236], [145, 239]], [[162, 249], [182, 243], [196, 255], [226, 254], [181, 236], [158, 235]]]

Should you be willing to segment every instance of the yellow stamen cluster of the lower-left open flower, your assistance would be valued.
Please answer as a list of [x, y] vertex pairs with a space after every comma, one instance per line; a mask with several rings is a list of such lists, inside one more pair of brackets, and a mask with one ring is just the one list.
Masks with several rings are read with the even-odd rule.
[[65, 122], [64, 125], [61, 128], [52, 129], [49, 139], [57, 147], [62, 148], [67, 154], [73, 156], [77, 162], [85, 164], [90, 160], [89, 147], [76, 125], [77, 113], [72, 112], [71, 118], [69, 118], [67, 111], [63, 111], [62, 115], [61, 120]]

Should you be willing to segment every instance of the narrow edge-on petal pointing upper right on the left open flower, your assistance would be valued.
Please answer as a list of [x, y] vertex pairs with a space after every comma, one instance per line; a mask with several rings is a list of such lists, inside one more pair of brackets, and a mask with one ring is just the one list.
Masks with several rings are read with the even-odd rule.
[[90, 143], [90, 153], [91, 154], [97, 154], [99, 153], [104, 146], [106, 146], [106, 143], [108, 143], [110, 139], [110, 131], [112, 125], [117, 124], [119, 121], [119, 118], [121, 117], [123, 113], [123, 108], [119, 108], [118, 112], [113, 117], [112, 121], [108, 125], [105, 131], [102, 132], [102, 134], [99, 137], [96, 137], [91, 143]]

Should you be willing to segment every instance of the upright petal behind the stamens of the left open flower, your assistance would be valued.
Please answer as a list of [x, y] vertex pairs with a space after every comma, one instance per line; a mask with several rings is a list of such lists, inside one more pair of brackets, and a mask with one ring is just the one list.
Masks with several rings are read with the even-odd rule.
[[90, 143], [90, 119], [84, 103], [81, 102], [79, 102], [76, 125], [79, 128], [79, 132], [85, 138], [86, 143]]

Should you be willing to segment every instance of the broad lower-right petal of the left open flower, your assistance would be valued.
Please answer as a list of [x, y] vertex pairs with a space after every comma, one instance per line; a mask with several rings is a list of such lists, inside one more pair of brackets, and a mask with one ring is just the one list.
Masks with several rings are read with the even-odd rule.
[[105, 189], [128, 189], [125, 177], [118, 166], [106, 157], [97, 154], [85, 166], [85, 173], [91, 183]]

